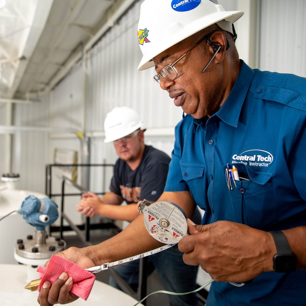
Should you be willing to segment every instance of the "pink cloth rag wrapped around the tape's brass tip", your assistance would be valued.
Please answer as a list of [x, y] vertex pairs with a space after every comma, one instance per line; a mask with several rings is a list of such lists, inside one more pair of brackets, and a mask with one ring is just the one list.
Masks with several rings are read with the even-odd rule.
[[38, 267], [37, 272], [39, 272], [39, 278], [41, 278], [41, 282], [37, 289], [38, 292], [45, 281], [49, 281], [53, 284], [62, 272], [66, 272], [68, 276], [72, 277], [73, 281], [70, 291], [85, 301], [87, 300], [95, 281], [94, 274], [81, 268], [77, 264], [56, 255], [51, 256], [47, 267]]

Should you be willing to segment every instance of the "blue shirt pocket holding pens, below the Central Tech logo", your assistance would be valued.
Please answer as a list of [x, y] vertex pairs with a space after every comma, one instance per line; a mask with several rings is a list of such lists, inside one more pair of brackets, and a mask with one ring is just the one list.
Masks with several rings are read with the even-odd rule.
[[256, 172], [246, 165], [234, 164], [240, 177], [248, 181], [235, 181], [230, 190], [230, 200], [236, 222], [257, 229], [268, 229], [277, 222], [272, 190], [272, 173]]

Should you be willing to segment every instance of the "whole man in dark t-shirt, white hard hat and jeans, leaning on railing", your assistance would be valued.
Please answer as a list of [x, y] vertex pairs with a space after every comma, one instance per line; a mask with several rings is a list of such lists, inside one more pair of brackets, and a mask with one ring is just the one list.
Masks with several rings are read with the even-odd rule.
[[[94, 193], [83, 194], [77, 210], [93, 217], [103, 215], [111, 219], [132, 221], [138, 215], [138, 204], [146, 199], [158, 200], [166, 183], [170, 157], [144, 144], [143, 123], [136, 111], [129, 107], [115, 107], [104, 122], [105, 142], [113, 142], [118, 160], [114, 166], [110, 191], [99, 198]], [[121, 206], [125, 201], [128, 205]], [[199, 212], [198, 212], [199, 214]], [[200, 214], [199, 214], [200, 222]], [[137, 233], [135, 233], [135, 237]], [[132, 243], [132, 241], [131, 241]], [[196, 266], [183, 262], [177, 245], [149, 257], [149, 273], [156, 269], [166, 290], [177, 293], [196, 289]], [[138, 288], [139, 261], [113, 268], [135, 291]], [[177, 280], [184, 280], [177, 281]], [[112, 277], [110, 285], [119, 288]], [[170, 297], [171, 306], [197, 305], [195, 294]]]

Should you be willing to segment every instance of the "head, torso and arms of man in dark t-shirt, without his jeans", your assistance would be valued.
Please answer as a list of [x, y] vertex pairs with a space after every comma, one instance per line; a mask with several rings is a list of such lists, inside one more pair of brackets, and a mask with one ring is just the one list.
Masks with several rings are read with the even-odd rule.
[[[132, 221], [138, 204], [146, 199], [155, 202], [164, 190], [170, 157], [144, 144], [143, 122], [135, 110], [115, 107], [104, 122], [105, 142], [113, 142], [118, 160], [110, 191], [99, 198], [83, 194], [77, 210], [87, 217], [102, 215], [115, 220]], [[126, 206], [120, 204], [125, 201]]]

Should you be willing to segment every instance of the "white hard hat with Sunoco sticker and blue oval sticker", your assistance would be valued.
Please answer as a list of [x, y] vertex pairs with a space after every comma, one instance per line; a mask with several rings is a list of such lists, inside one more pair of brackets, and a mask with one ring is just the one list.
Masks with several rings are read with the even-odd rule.
[[162, 51], [211, 24], [231, 32], [244, 12], [226, 12], [217, 0], [145, 0], [140, 7], [138, 42], [143, 58], [138, 70], [154, 66]]

